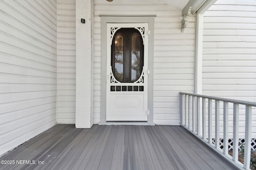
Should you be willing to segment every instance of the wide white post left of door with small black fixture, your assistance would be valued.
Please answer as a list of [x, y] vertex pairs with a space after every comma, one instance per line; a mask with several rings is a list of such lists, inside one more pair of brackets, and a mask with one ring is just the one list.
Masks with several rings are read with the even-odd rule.
[[91, 0], [76, 0], [76, 128], [92, 127], [91, 49]]

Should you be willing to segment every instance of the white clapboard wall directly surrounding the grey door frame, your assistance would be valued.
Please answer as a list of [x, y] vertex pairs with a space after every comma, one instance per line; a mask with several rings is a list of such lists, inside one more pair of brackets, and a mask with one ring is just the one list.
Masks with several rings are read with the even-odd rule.
[[154, 28], [154, 123], [179, 124], [178, 92], [193, 92], [194, 17], [181, 33], [181, 11], [156, 0], [94, 0], [94, 123], [100, 121], [100, 14], [156, 14]]

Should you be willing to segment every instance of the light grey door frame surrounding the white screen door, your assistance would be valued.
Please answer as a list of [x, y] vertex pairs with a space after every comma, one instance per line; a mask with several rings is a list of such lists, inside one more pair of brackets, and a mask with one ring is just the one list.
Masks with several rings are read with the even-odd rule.
[[[107, 23], [148, 23], [150, 34], [148, 36], [148, 122], [147, 125], [154, 125], [153, 122], [153, 80], [154, 80], [154, 18], [150, 16], [109, 16], [101, 17], [101, 87], [100, 87], [100, 123], [106, 123], [106, 78], [107, 78]], [[113, 124], [113, 123], [111, 123]], [[130, 124], [130, 123], [124, 123]], [[143, 123], [142, 123], [143, 124]]]

